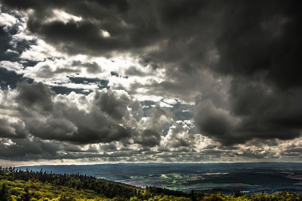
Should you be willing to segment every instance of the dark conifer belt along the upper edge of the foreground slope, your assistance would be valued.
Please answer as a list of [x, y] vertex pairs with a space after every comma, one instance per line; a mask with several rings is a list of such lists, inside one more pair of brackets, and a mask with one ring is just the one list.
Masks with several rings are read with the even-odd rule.
[[43, 171], [43, 169], [40, 171], [32, 171], [28, 168], [26, 170], [21, 170], [15, 169], [14, 167], [2, 168], [2, 166], [0, 166], [0, 169], [0, 177], [8, 181], [21, 180], [25, 182], [31, 181], [33, 183], [41, 182], [55, 187], [64, 186], [75, 190], [92, 190], [96, 194], [107, 198], [121, 196], [126, 199], [130, 199], [131, 197], [149, 199], [156, 195], [178, 197], [189, 196], [182, 191], [148, 186], [143, 189], [119, 182], [97, 179], [95, 176], [88, 176], [86, 174], [55, 174], [52, 173], [52, 171]]

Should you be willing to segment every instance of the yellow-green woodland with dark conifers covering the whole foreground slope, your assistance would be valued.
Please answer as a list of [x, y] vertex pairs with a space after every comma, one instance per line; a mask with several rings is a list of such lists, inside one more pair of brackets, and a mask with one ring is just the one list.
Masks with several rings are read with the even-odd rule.
[[51, 171], [1, 168], [0, 201], [295, 201], [301, 193], [245, 194], [234, 191], [231, 195], [146, 187], [145, 189], [82, 174], [54, 174]]

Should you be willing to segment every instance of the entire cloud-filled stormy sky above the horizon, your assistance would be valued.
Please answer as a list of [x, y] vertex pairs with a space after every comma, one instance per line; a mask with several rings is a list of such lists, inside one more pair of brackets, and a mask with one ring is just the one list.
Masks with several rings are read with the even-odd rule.
[[0, 0], [0, 164], [302, 162], [297, 4]]

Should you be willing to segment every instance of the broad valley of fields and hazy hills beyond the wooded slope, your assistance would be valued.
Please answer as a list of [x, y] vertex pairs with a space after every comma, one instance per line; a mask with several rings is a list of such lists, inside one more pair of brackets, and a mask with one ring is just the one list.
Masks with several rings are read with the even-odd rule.
[[163, 187], [189, 192], [232, 193], [233, 190], [257, 193], [301, 191], [302, 163], [140, 163], [98, 165], [43, 165], [26, 168], [55, 173], [80, 173], [119, 181], [137, 187]]

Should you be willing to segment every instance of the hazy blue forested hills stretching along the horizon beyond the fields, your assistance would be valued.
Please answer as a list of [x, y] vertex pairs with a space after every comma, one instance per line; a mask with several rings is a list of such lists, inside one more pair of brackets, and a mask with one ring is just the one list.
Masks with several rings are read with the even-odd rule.
[[20, 166], [33, 171], [53, 171], [58, 174], [197, 174], [202, 172], [247, 172], [247, 171], [274, 171], [274, 170], [298, 170], [302, 163], [294, 162], [247, 162], [247, 163], [116, 163], [116, 164], [95, 164], [95, 165], [33, 165]]

